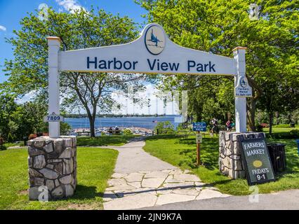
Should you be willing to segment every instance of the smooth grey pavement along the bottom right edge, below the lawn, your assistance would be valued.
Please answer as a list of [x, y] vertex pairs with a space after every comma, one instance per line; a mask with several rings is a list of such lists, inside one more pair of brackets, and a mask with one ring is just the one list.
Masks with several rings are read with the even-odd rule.
[[217, 197], [207, 200], [164, 204], [143, 209], [157, 210], [298, 210], [299, 190], [247, 196]]

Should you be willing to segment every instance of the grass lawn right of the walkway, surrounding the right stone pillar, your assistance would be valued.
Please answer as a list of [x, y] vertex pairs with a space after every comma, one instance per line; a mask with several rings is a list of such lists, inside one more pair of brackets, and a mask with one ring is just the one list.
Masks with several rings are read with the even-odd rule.
[[[287, 170], [278, 176], [278, 180], [258, 185], [260, 193], [299, 188], [299, 156], [295, 139], [267, 139], [267, 142], [286, 144]], [[222, 193], [230, 195], [248, 195], [247, 181], [232, 180], [218, 171], [218, 137], [206, 136], [201, 144], [200, 167], [196, 167], [195, 137], [182, 139], [172, 135], [149, 137], [144, 146], [148, 153], [182, 169], [190, 169], [201, 181], [211, 183]]]

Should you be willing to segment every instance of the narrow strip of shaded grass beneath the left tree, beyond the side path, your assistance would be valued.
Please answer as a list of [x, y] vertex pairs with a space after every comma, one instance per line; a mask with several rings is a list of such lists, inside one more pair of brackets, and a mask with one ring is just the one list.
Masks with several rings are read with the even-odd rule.
[[122, 146], [136, 135], [104, 135], [100, 137], [78, 137], [77, 146]]

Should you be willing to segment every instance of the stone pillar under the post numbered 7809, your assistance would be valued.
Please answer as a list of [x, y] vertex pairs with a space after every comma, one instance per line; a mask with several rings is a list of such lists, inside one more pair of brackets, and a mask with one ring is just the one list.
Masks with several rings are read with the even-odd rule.
[[38, 137], [28, 141], [29, 200], [39, 200], [41, 186], [48, 200], [74, 195], [77, 186], [76, 137]]

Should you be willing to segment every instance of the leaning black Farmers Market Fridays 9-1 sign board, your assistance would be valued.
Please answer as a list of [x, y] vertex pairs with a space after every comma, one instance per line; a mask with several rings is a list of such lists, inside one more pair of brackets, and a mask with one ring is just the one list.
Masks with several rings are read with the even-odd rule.
[[242, 160], [248, 185], [275, 181], [270, 155], [264, 138], [244, 139], [241, 142]]

